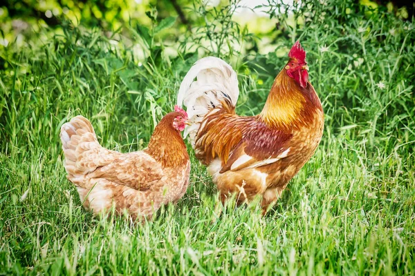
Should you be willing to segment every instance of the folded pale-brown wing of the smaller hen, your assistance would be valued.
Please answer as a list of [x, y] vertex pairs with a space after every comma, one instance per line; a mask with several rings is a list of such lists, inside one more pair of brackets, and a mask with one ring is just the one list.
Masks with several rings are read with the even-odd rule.
[[142, 151], [123, 154], [89, 174], [91, 178], [104, 178], [136, 190], [150, 189], [163, 176], [161, 164]]

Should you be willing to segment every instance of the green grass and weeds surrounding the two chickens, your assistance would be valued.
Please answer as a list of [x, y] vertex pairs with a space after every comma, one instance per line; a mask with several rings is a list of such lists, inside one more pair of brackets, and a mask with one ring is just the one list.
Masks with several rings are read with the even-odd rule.
[[[295, 14], [310, 10], [317, 16], [305, 26], [283, 14], [282, 30], [268, 34], [284, 57], [203, 46], [239, 72], [241, 115], [261, 110], [295, 39], [307, 51], [324, 137], [266, 217], [255, 203], [223, 208], [192, 154], [185, 197], [143, 226], [93, 217], [66, 180], [60, 126], [81, 114], [103, 146], [145, 148], [198, 58], [165, 57], [165, 45], [183, 46], [192, 34], [145, 43], [131, 30], [146, 61], [129, 40], [114, 46], [82, 28], [44, 29], [30, 47], [1, 48], [0, 274], [414, 275], [414, 23], [342, 1]], [[247, 49], [255, 43], [246, 30], [227, 31]]]

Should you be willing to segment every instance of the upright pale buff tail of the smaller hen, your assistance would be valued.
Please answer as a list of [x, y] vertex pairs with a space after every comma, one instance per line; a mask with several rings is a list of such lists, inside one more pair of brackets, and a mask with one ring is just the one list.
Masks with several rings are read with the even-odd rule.
[[68, 179], [75, 184], [82, 184], [89, 172], [111, 163], [119, 154], [102, 148], [91, 123], [82, 116], [64, 124], [59, 136], [65, 155], [64, 167]]

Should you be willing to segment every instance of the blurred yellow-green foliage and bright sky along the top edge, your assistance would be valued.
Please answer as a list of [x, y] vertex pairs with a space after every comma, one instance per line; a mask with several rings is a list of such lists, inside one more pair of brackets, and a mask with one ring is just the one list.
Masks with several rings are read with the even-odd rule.
[[[231, 1], [234, 9], [232, 19], [241, 26], [247, 26], [249, 32], [262, 38], [273, 37], [280, 21], [271, 18], [273, 6], [288, 7], [299, 6], [297, 1], [268, 1], [268, 0], [242, 0]], [[199, 6], [206, 8], [221, 8], [227, 6], [229, 1], [220, 0], [123, 0], [123, 1], [73, 1], [73, 0], [7, 0], [0, 5], [0, 47], [9, 43], [17, 46], [27, 46], [27, 39], [43, 28], [51, 28], [54, 32], [62, 32], [62, 25], [82, 26], [83, 28], [101, 28], [107, 32], [118, 32], [129, 37], [126, 26], [151, 26], [156, 21], [169, 17], [177, 18], [174, 22], [176, 28], [161, 35], [163, 39], [176, 39], [186, 30], [192, 31], [195, 27], [205, 23], [205, 16], [209, 12], [203, 11]], [[278, 5], [276, 5], [279, 3]], [[353, 3], [353, 2], [352, 2]], [[203, 4], [203, 5], [202, 5]], [[356, 12], [356, 7], [362, 5], [369, 9], [387, 10], [403, 20], [410, 20], [413, 16], [414, 4], [408, 1], [369, 1], [356, 0], [347, 12]], [[236, 8], [239, 6], [239, 8]], [[243, 7], [243, 8], [242, 8]], [[252, 12], [255, 9], [255, 12]], [[281, 11], [279, 11], [281, 12]], [[172, 23], [172, 21], [169, 21]], [[25, 43], [26, 41], [26, 43]], [[269, 41], [259, 47], [261, 52], [267, 52]], [[265, 48], [265, 49], [264, 49]]]

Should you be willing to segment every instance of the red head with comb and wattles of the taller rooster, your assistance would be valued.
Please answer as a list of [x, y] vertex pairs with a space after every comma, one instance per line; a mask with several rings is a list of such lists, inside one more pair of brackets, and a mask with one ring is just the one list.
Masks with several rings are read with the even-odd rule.
[[295, 42], [290, 52], [288, 52], [290, 60], [285, 66], [287, 75], [299, 84], [302, 88], [306, 88], [308, 81], [308, 66], [306, 62], [306, 51], [299, 44]]

